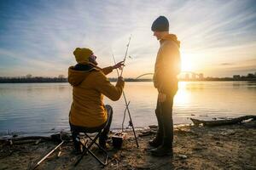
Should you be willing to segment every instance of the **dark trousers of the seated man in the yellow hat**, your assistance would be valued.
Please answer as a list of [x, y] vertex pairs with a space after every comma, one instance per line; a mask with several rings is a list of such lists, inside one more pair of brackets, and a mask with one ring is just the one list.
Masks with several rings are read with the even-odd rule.
[[71, 122], [69, 122], [72, 138], [73, 138], [73, 144], [76, 150], [79, 150], [79, 142], [76, 140], [77, 136], [79, 136], [79, 133], [96, 133], [102, 131], [100, 137], [99, 137], [99, 143], [105, 144], [108, 139], [108, 133], [112, 122], [113, 117], [113, 109], [111, 105], [105, 105], [106, 110], [108, 112], [108, 120], [107, 122], [103, 123], [99, 127], [80, 127], [75, 126]]

